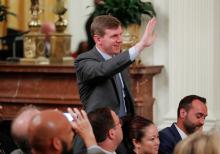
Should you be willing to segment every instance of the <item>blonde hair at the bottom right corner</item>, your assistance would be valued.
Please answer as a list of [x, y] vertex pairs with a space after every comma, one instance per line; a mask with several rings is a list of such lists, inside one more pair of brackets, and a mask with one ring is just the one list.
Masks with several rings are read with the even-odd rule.
[[197, 132], [179, 142], [174, 154], [220, 154], [220, 134]]

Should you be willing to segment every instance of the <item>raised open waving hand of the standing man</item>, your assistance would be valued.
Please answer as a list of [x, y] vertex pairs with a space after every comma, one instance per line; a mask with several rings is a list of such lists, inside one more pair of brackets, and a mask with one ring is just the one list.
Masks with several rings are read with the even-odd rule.
[[149, 47], [153, 44], [156, 35], [154, 33], [154, 28], [156, 26], [157, 20], [153, 17], [147, 24], [144, 35], [141, 40], [135, 45], [135, 49], [141, 52], [145, 47]]

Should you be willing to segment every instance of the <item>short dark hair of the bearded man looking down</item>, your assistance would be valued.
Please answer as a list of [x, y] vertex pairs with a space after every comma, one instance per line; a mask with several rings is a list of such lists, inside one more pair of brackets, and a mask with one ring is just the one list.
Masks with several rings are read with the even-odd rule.
[[197, 95], [189, 95], [184, 97], [183, 99], [181, 99], [179, 106], [178, 106], [178, 110], [177, 110], [177, 117], [180, 116], [180, 109], [185, 109], [186, 111], [188, 111], [192, 105], [192, 101], [194, 100], [200, 100], [202, 103], [206, 104], [206, 99], [204, 97], [200, 97]]

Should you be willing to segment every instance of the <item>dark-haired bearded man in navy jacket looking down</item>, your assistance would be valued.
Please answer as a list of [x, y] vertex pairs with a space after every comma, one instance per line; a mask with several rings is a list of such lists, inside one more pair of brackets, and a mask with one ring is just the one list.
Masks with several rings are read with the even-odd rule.
[[207, 115], [205, 98], [197, 95], [184, 97], [177, 110], [177, 122], [159, 132], [159, 154], [172, 154], [179, 141], [196, 131], [202, 131]]

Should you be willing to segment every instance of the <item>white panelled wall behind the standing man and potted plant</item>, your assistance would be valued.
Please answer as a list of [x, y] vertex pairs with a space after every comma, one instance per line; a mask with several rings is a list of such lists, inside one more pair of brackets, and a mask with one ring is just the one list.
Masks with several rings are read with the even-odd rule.
[[[180, 99], [189, 94], [207, 98], [205, 129], [220, 121], [220, 1], [151, 0], [158, 24], [155, 44], [141, 54], [145, 65], [164, 65], [154, 78], [154, 121], [163, 128], [176, 121]], [[68, 0], [72, 49], [86, 39], [85, 21], [93, 0]], [[146, 23], [142, 23], [142, 31]]]

